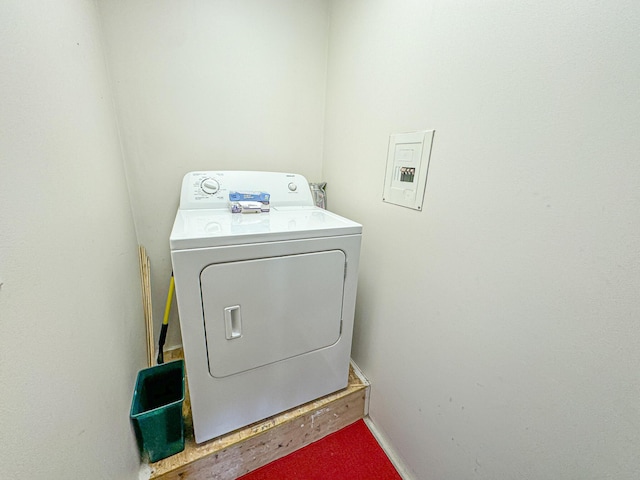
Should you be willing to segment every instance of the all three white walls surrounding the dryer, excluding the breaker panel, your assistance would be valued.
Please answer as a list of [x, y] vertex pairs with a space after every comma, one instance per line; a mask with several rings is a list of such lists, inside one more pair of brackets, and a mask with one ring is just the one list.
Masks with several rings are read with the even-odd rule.
[[[324, 178], [365, 225], [371, 415], [417, 478], [637, 476], [640, 6], [332, 2], [327, 77], [323, 1], [98, 5], [157, 322], [186, 171]], [[137, 468], [136, 237], [99, 23], [90, 1], [0, 6], [7, 478]], [[382, 203], [388, 135], [424, 128], [424, 211]]]

